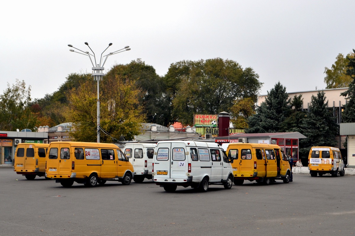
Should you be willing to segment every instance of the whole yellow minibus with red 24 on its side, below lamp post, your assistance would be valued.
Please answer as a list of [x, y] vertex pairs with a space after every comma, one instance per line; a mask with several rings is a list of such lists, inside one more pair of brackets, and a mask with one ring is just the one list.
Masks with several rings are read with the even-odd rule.
[[46, 176], [64, 187], [74, 181], [88, 187], [116, 180], [129, 185], [132, 164], [114, 144], [96, 142], [51, 142], [47, 153]]

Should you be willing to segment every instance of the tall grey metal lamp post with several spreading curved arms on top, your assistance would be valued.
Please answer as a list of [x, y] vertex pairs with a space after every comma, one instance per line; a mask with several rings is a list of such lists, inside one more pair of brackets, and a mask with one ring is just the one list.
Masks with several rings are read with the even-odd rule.
[[[90, 61], [91, 61], [91, 64], [92, 64], [92, 70], [93, 70], [93, 73], [91, 74], [93, 77], [94, 77], [94, 80], [97, 80], [97, 142], [100, 142], [100, 98], [99, 98], [99, 81], [102, 80], [102, 77], [105, 75], [103, 73], [104, 71], [104, 64], [107, 60], [107, 58], [111, 55], [114, 55], [114, 54], [118, 54], [120, 52], [124, 52], [124, 51], [129, 51], [131, 50], [129, 46], [125, 46], [124, 48], [120, 49], [120, 50], [117, 50], [117, 51], [114, 51], [114, 52], [110, 52], [109, 54], [105, 55], [105, 56], [102, 56], [102, 54], [104, 54], [104, 52], [109, 48], [109, 46], [112, 45], [112, 43], [109, 43], [108, 47], [102, 52], [101, 56], [100, 56], [100, 62], [99, 64], [96, 63], [96, 57], [95, 57], [95, 53], [93, 52], [93, 50], [91, 49], [91, 47], [89, 46], [89, 44], [87, 42], [85, 42], [85, 45], [87, 45], [89, 47], [89, 49], [91, 50], [91, 52], [93, 53], [90, 54], [88, 51], [84, 52], [80, 49], [77, 49], [76, 47], [73, 47], [73, 45], [71, 44], [68, 44], [69, 47], [72, 47], [72, 48], [75, 48], [76, 50], [79, 50], [81, 52], [77, 52], [77, 51], [74, 51], [73, 49], [70, 49], [69, 51], [71, 52], [76, 52], [78, 54], [82, 54], [82, 55], [85, 55], [85, 56], [88, 56]], [[83, 52], [83, 53], [82, 53]], [[94, 66], [94, 63], [91, 59], [91, 56], [94, 58], [94, 62], [95, 62], [95, 66]], [[105, 60], [103, 61], [103, 59], [105, 58]], [[103, 61], [103, 63], [101, 64], [101, 62]]]

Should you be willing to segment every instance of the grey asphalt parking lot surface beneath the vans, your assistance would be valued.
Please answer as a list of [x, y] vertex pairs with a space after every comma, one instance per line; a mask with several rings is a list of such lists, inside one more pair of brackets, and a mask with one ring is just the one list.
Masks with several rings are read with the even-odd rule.
[[354, 235], [355, 176], [268, 186], [245, 181], [208, 192], [165, 192], [151, 180], [128, 186], [26, 180], [0, 169], [0, 235]]

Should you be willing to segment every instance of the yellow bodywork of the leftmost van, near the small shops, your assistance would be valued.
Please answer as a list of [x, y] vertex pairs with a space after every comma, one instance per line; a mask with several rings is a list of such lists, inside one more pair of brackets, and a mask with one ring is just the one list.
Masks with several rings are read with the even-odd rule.
[[[15, 159], [13, 163], [14, 171], [17, 174], [37, 173], [39, 175], [44, 175], [46, 163], [45, 152], [47, 151], [48, 147], [49, 144], [18, 144], [16, 147]], [[32, 149], [33, 151], [30, 152], [29, 149]], [[42, 155], [40, 155], [39, 152], [41, 152]], [[29, 153], [31, 153], [31, 155]]]

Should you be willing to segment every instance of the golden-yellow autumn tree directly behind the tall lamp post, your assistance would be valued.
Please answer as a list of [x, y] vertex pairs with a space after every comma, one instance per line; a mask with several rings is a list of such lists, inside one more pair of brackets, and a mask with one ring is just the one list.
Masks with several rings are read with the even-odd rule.
[[[105, 76], [100, 83], [100, 141], [114, 142], [121, 136], [126, 140], [140, 133], [144, 122], [134, 80], [119, 76]], [[97, 83], [87, 80], [73, 88], [67, 99], [70, 119], [73, 122], [73, 140], [96, 141], [97, 136]]]

